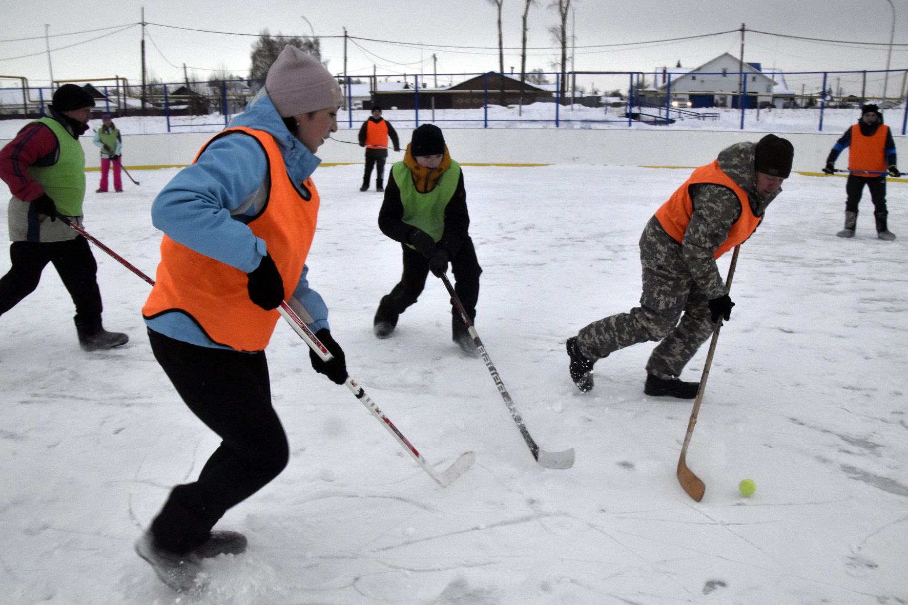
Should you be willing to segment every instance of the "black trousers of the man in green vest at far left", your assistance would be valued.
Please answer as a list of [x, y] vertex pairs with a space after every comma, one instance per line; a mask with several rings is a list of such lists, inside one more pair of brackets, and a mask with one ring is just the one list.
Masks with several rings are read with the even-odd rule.
[[41, 272], [52, 263], [75, 304], [77, 326], [94, 332], [101, 327], [101, 291], [98, 263], [82, 235], [64, 242], [13, 242], [9, 247], [13, 266], [0, 277], [0, 315], [35, 292]]

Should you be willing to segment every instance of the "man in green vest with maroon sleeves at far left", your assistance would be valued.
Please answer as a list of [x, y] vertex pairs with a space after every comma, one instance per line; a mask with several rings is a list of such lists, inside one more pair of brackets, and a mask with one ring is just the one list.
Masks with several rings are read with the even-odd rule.
[[79, 136], [88, 130], [94, 98], [84, 88], [64, 84], [54, 92], [47, 114], [0, 149], [0, 178], [9, 186], [7, 218], [13, 241], [12, 267], [0, 278], [0, 315], [38, 287], [41, 272], [53, 263], [75, 303], [75, 329], [84, 351], [125, 344], [122, 332], [102, 327], [98, 265], [88, 240], [64, 221], [83, 224], [85, 154]]

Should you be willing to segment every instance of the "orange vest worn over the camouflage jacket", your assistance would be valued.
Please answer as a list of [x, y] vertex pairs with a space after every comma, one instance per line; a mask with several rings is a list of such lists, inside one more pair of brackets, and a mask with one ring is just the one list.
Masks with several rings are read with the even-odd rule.
[[662, 228], [666, 230], [672, 239], [677, 243], [684, 241], [684, 234], [687, 231], [687, 225], [690, 224], [691, 214], [694, 213], [694, 201], [690, 197], [690, 186], [695, 183], [715, 183], [725, 185], [738, 197], [741, 203], [741, 216], [728, 230], [728, 236], [725, 242], [720, 243], [719, 247], [713, 252], [713, 257], [718, 258], [734, 248], [754, 233], [756, 226], [760, 224], [762, 218], [754, 215], [747, 200], [747, 192], [735, 183], [732, 177], [728, 176], [719, 168], [719, 161], [712, 164], [700, 166], [697, 168], [687, 181], [678, 187], [675, 193], [668, 198], [666, 203], [656, 210], [656, 219]]

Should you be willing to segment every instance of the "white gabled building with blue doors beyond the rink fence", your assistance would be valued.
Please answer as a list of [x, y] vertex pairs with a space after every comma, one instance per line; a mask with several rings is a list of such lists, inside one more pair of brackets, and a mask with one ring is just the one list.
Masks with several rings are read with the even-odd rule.
[[[741, 78], [744, 74], [745, 80]], [[765, 74], [760, 64], [743, 66], [733, 55], [724, 53], [694, 69], [679, 67], [656, 70], [656, 94], [687, 97], [694, 107], [737, 107], [743, 90], [748, 106], [772, 103], [776, 81]]]

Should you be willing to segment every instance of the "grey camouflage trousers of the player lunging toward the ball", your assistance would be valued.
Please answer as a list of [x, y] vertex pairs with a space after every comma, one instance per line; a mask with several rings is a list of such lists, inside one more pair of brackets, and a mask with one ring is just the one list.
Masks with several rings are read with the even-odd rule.
[[[715, 327], [706, 294], [696, 285], [676, 243], [640, 241], [643, 293], [640, 306], [592, 322], [577, 333], [577, 345], [596, 361], [637, 342], [661, 341], [646, 362], [646, 372], [676, 378]], [[679, 321], [680, 320], [680, 321]]]

